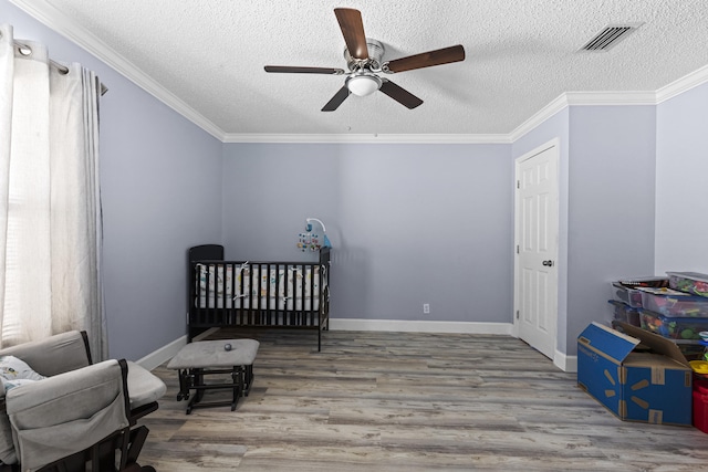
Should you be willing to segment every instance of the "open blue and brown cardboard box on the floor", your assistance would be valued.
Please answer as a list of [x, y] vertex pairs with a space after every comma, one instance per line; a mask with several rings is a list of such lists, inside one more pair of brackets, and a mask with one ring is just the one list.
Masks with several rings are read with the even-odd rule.
[[670, 339], [618, 323], [577, 337], [577, 385], [625, 421], [691, 424], [690, 365]]

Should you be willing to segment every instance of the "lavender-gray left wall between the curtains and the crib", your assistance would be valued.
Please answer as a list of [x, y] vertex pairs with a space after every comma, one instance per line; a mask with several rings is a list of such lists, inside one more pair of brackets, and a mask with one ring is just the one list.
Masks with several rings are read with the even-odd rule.
[[81, 62], [101, 101], [104, 295], [112, 357], [138, 359], [186, 331], [186, 249], [221, 235], [221, 143], [7, 0], [0, 21]]

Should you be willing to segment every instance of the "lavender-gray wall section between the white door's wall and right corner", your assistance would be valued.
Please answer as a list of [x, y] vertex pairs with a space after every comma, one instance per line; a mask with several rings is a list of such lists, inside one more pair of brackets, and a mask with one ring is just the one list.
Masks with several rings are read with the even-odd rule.
[[655, 106], [570, 109], [568, 345], [607, 315], [610, 282], [654, 273]]

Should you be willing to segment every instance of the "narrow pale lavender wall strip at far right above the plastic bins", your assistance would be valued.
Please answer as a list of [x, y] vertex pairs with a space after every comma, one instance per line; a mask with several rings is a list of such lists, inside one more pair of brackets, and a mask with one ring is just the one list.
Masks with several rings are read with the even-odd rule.
[[656, 273], [708, 273], [708, 83], [657, 107]]

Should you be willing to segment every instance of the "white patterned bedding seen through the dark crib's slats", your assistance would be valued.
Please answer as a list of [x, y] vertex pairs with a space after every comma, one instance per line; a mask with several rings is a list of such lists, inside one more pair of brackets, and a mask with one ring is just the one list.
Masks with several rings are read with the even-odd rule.
[[[198, 297], [195, 304], [199, 308], [313, 311], [320, 307], [319, 265], [198, 263], [196, 268]], [[322, 272], [326, 286], [326, 269]]]

